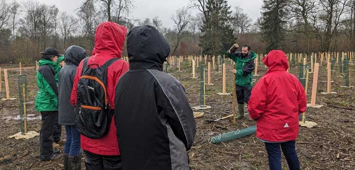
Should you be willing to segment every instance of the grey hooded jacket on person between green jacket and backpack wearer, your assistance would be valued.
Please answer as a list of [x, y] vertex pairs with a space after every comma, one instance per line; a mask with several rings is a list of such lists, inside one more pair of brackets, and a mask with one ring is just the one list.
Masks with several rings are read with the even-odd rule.
[[86, 51], [79, 46], [71, 46], [65, 51], [65, 66], [60, 69], [58, 82], [58, 123], [74, 125], [74, 107], [71, 105], [73, 80], [81, 60], [87, 57]]

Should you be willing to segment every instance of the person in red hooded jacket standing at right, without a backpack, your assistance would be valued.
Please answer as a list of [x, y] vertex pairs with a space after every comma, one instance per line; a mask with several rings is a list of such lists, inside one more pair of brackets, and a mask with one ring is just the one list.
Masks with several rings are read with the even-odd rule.
[[263, 58], [269, 68], [251, 91], [249, 117], [256, 120], [256, 136], [265, 143], [270, 170], [281, 170], [281, 149], [289, 170], [300, 170], [296, 153], [299, 114], [307, 108], [300, 81], [286, 70], [288, 61], [281, 50]]

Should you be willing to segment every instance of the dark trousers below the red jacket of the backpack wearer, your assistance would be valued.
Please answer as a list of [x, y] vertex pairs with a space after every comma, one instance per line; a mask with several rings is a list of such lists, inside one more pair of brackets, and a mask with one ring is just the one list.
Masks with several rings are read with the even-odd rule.
[[85, 151], [86, 170], [122, 170], [121, 155], [99, 155]]

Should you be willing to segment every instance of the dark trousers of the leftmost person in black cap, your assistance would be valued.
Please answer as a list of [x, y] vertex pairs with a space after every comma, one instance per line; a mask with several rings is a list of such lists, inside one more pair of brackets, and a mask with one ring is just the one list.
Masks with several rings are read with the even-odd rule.
[[55, 120], [58, 121], [58, 111], [41, 112], [42, 125], [39, 132], [40, 158], [49, 159], [53, 156], [53, 132]]

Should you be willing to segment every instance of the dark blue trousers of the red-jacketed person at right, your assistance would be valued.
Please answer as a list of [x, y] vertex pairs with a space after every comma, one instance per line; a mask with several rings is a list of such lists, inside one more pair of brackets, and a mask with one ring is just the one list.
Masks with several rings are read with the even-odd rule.
[[265, 142], [267, 157], [269, 159], [269, 169], [282, 170], [280, 145], [288, 164], [288, 170], [300, 170], [300, 161], [296, 153], [296, 140], [282, 143]]

